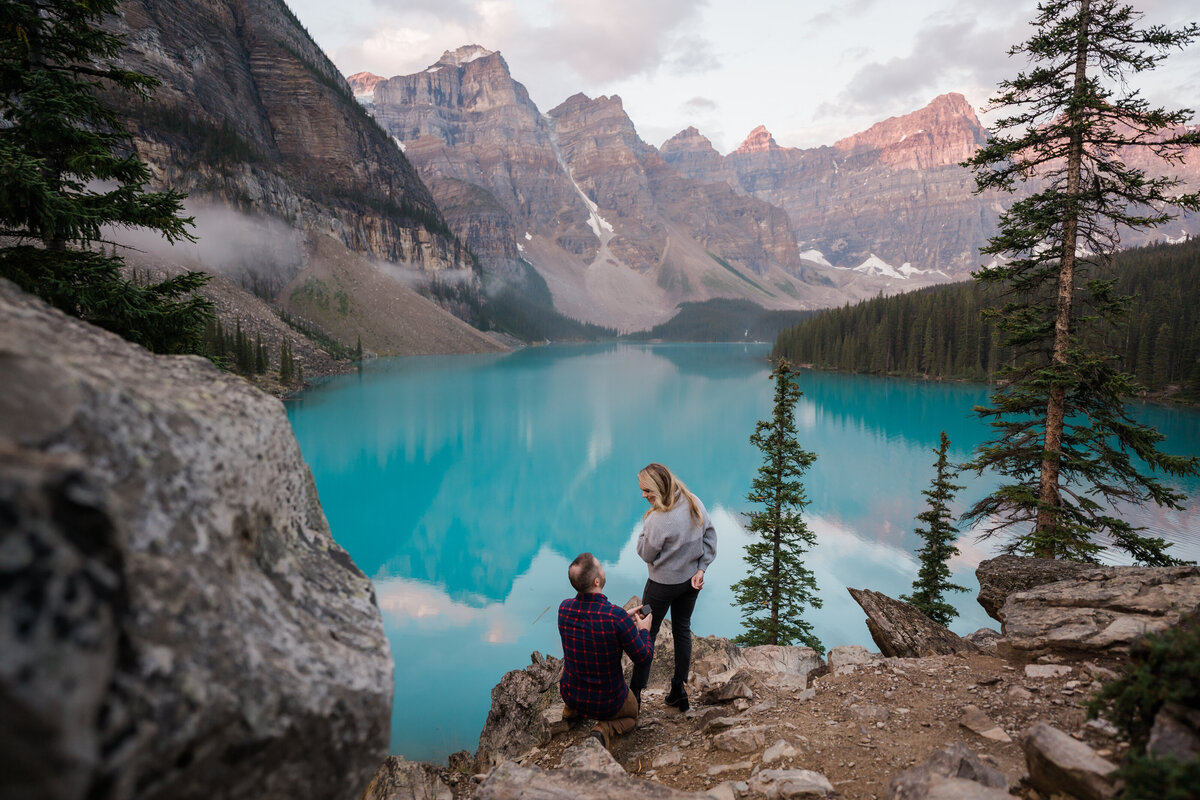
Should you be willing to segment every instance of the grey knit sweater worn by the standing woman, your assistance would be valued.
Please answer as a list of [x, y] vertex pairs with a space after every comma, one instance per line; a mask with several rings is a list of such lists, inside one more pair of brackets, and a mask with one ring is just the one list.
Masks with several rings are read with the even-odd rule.
[[[696, 498], [700, 503], [700, 498]], [[700, 503], [701, 521], [691, 516], [686, 498], [670, 511], [652, 511], [637, 537], [637, 554], [649, 565], [650, 581], [683, 583], [697, 570], [707, 570], [716, 558], [716, 529], [708, 510]]]

